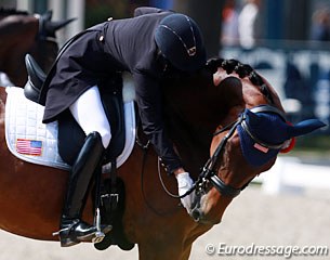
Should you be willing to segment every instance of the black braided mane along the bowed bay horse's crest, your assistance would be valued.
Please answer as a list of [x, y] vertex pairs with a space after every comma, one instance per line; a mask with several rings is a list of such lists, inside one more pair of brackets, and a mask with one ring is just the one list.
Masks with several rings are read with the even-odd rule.
[[219, 67], [222, 67], [227, 74], [236, 73], [239, 78], [248, 77], [254, 86], [260, 88], [260, 91], [265, 95], [265, 98], [274, 104], [274, 99], [267, 84], [250, 65], [242, 64], [234, 58], [225, 60], [221, 57], [211, 58], [207, 63], [207, 68], [212, 72], [216, 72]]

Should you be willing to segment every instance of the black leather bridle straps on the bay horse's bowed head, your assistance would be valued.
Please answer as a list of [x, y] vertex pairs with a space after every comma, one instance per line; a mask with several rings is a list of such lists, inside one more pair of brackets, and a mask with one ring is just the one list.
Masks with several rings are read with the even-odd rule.
[[[285, 114], [281, 110], [279, 110], [278, 108], [270, 106], [270, 105], [262, 105], [262, 106], [253, 107], [250, 110], [253, 113], [273, 113], [273, 114], [278, 115], [283, 121], [287, 121]], [[241, 188], [236, 188], [236, 187], [225, 184], [220, 179], [220, 177], [217, 177], [217, 174], [216, 174], [216, 162], [219, 161], [220, 155], [225, 150], [226, 143], [233, 136], [238, 125], [241, 125], [241, 127], [245, 129], [245, 131], [247, 131], [247, 133], [252, 138], [252, 140], [255, 143], [258, 143], [266, 148], [280, 150], [286, 144], [286, 142], [285, 142], [281, 144], [274, 145], [274, 144], [267, 144], [265, 142], [260, 141], [256, 136], [254, 136], [251, 133], [251, 131], [246, 122], [246, 114], [242, 113], [236, 121], [229, 123], [228, 126], [224, 127], [223, 129], [216, 131], [213, 134], [213, 135], [216, 135], [216, 134], [220, 134], [220, 133], [228, 130], [228, 132], [225, 134], [225, 136], [222, 139], [222, 141], [217, 145], [213, 155], [208, 159], [206, 165], [202, 167], [201, 172], [198, 177], [198, 180], [194, 183], [192, 191], [188, 191], [187, 194], [192, 193], [194, 190], [198, 194], [206, 193], [208, 190], [209, 183], [211, 183], [217, 190], [217, 192], [220, 192], [223, 196], [236, 197], [240, 194], [240, 192], [243, 188], [246, 188], [248, 186], [250, 181], [252, 181], [252, 179], [251, 179]]]

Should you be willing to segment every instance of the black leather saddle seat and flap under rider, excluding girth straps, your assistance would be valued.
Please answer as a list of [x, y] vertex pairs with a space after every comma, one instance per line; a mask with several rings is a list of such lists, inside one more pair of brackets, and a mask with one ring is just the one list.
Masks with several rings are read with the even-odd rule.
[[[24, 94], [28, 100], [39, 103], [39, 96], [47, 76], [31, 55], [27, 54], [25, 62], [29, 78], [24, 88]], [[126, 141], [121, 74], [111, 75], [108, 80], [100, 83], [98, 89], [103, 107], [111, 126], [113, 138], [106, 151], [106, 162], [109, 162], [121, 154]], [[58, 153], [65, 162], [74, 164], [84, 139], [83, 130], [71, 114], [69, 112], [64, 113], [58, 118]]]

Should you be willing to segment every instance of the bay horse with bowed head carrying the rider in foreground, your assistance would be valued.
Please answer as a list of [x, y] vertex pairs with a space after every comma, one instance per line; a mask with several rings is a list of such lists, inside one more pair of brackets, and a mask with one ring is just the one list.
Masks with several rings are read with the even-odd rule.
[[[128, 239], [137, 244], [141, 260], [189, 258], [194, 240], [220, 223], [240, 190], [276, 160], [275, 154], [261, 166], [247, 161], [237, 119], [247, 108], [260, 105], [273, 107], [270, 113], [285, 113], [273, 87], [236, 61], [215, 58], [196, 75], [162, 83], [164, 122], [185, 168], [197, 180], [198, 199], [188, 214], [179, 198], [169, 196], [177, 191], [175, 178], [164, 172], [150, 146], [141, 145], [143, 135], [137, 133], [140, 142], [117, 173], [127, 191], [123, 230]], [[9, 152], [5, 102], [6, 92], [0, 88], [0, 227], [55, 240], [52, 233], [58, 229], [68, 172], [22, 161]], [[83, 214], [90, 222], [91, 197]]]

